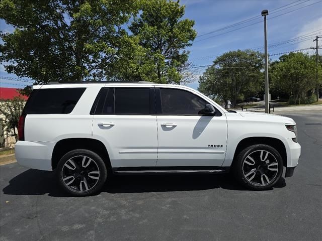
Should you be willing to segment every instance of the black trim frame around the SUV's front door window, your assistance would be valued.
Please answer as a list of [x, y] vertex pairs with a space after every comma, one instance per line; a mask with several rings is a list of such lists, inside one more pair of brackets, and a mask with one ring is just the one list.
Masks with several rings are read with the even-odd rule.
[[[188, 93], [194, 94], [195, 96], [203, 99], [206, 102], [206, 104], [211, 104], [215, 108], [216, 113], [218, 113], [218, 114], [164, 114], [164, 113], [162, 113], [162, 104], [161, 104], [161, 92], [160, 92], [160, 89], [176, 89], [176, 90], [186, 91]], [[170, 116], [170, 115], [174, 115], [174, 116], [178, 116], [178, 115], [180, 115], [180, 116], [222, 116], [221, 111], [218, 110], [218, 108], [216, 108], [216, 106], [214, 106], [212, 103], [209, 103], [208, 100], [202, 98], [201, 96], [199, 96], [199, 95], [197, 95], [197, 94], [195, 94], [195, 93], [193, 93], [193, 92], [191, 92], [189, 90], [186, 90], [186, 89], [169, 88], [169, 87], [165, 87], [165, 88], [160, 87], [159, 88], [159, 87], [157, 87], [157, 88], [155, 88], [155, 96], [156, 96], [156, 114], [157, 115], [168, 115], [168, 116]]]

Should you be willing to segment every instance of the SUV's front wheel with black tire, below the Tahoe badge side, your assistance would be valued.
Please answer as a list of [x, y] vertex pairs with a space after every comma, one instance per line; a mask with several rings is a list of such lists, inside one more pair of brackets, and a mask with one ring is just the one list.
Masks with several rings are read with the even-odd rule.
[[268, 190], [281, 178], [283, 160], [271, 146], [252, 145], [237, 155], [233, 172], [237, 181], [248, 189]]

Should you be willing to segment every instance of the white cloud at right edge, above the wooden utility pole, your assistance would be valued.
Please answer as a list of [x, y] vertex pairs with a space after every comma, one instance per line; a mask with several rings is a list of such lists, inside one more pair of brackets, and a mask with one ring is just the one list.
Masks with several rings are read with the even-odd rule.
[[[315, 30], [321, 29], [321, 26], [322, 26], [322, 17], [317, 19], [317, 20], [311, 21], [311, 22], [303, 25], [303, 27], [301, 28], [300, 32], [297, 34], [296, 37], [299, 37], [299, 36], [305, 35], [307, 33], [313, 32]], [[316, 35], [321, 36], [322, 35], [321, 32], [322, 32], [322, 30], [319, 31], [319, 34], [318, 34], [318, 32], [316, 32]], [[315, 34], [315, 33], [313, 33], [313, 34]], [[304, 48], [309, 48], [309, 47], [315, 47], [316, 43], [313, 42], [313, 39], [315, 39], [315, 35], [311, 36], [311, 37], [312, 38], [309, 38], [308, 40], [305, 40], [305, 41], [303, 41], [301, 43], [298, 43], [296, 49], [304, 49]], [[320, 41], [322, 43], [322, 39]]]

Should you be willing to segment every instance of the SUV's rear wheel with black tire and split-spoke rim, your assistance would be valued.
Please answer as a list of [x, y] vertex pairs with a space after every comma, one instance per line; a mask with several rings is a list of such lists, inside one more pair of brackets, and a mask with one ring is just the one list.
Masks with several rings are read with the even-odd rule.
[[90, 196], [100, 191], [107, 178], [102, 158], [95, 152], [77, 149], [67, 152], [58, 162], [57, 178], [73, 196]]

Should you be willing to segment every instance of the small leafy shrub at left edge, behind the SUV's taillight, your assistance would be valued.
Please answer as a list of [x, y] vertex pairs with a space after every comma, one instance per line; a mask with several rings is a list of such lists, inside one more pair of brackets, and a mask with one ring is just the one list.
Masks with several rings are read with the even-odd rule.
[[25, 100], [20, 97], [15, 97], [13, 100], [0, 102], [1, 121], [4, 124], [4, 131], [7, 136], [15, 137], [18, 141], [18, 123], [19, 117], [24, 109]]

